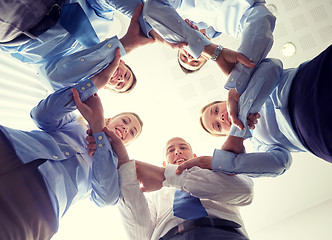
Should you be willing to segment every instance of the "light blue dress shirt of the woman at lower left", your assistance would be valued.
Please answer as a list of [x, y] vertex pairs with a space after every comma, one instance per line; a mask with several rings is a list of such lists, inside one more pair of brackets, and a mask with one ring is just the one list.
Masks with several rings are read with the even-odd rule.
[[[91, 80], [74, 86], [81, 101], [97, 92]], [[49, 95], [32, 109], [41, 129], [31, 132], [0, 126], [23, 163], [46, 159], [38, 167], [44, 177], [55, 214], [59, 219], [76, 201], [90, 196], [98, 206], [115, 204], [120, 188], [118, 157], [104, 132], [93, 134], [97, 149], [92, 157], [86, 146], [86, 127], [76, 121], [71, 88]]]

